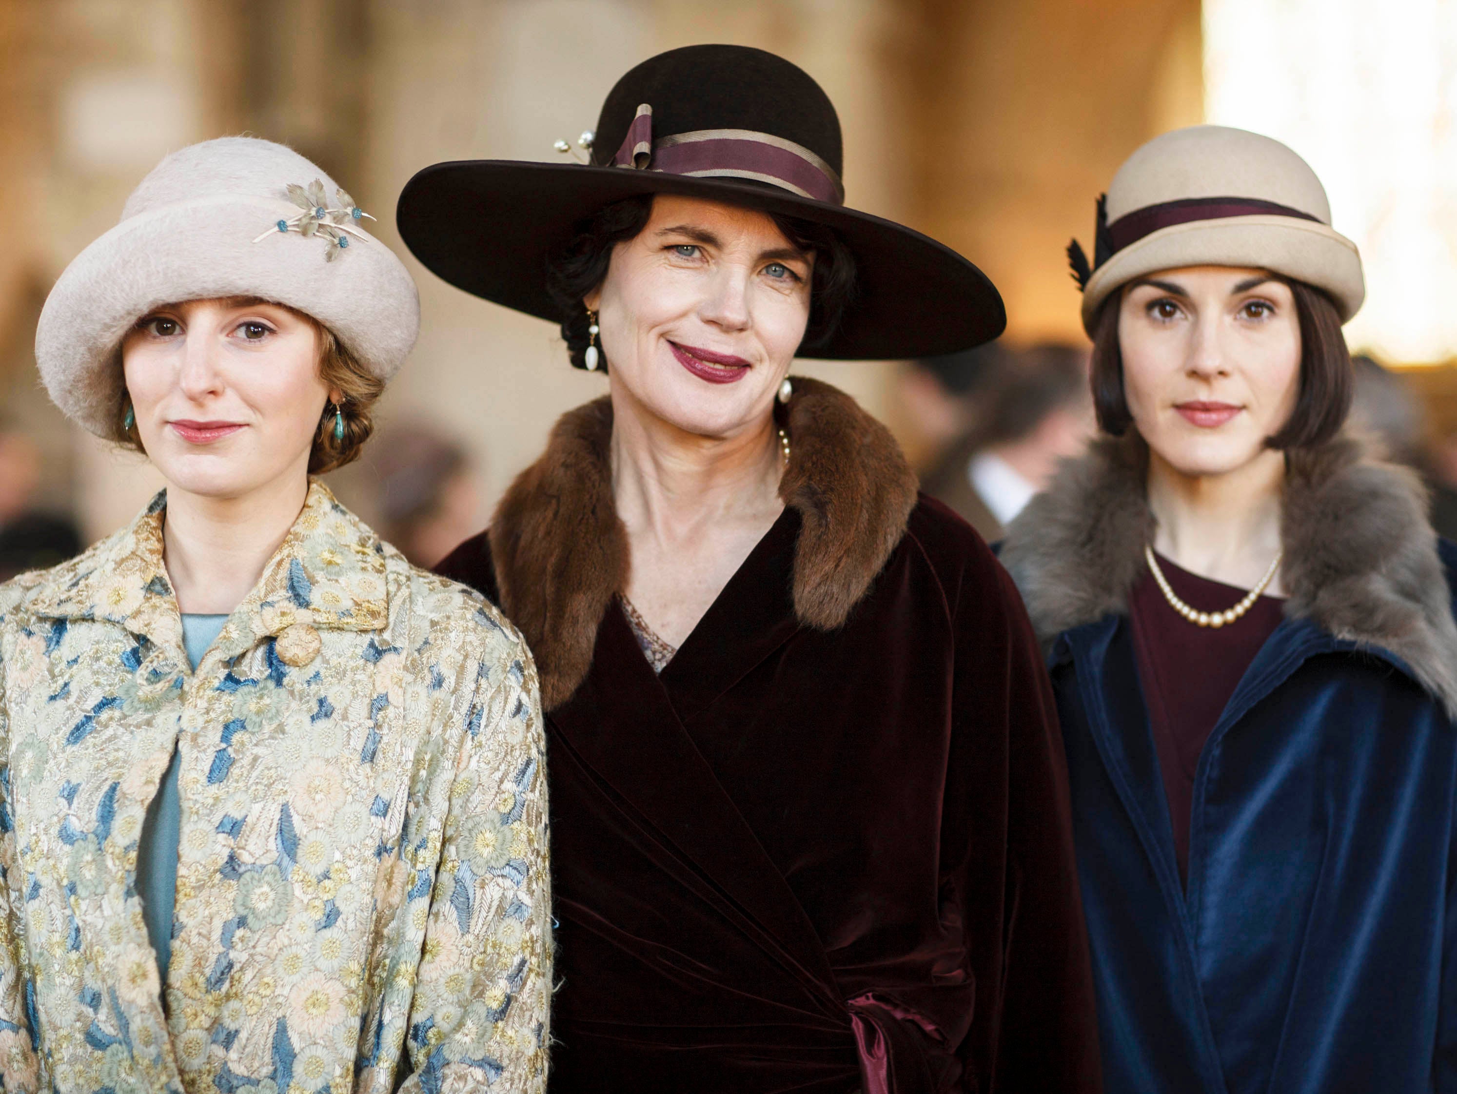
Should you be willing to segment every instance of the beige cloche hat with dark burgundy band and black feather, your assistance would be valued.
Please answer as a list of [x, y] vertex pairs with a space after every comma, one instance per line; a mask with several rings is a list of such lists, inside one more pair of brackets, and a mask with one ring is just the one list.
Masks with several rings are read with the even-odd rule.
[[1093, 265], [1074, 240], [1083, 326], [1135, 277], [1192, 265], [1256, 267], [1335, 300], [1340, 320], [1365, 299], [1356, 245], [1330, 227], [1324, 186], [1278, 140], [1224, 125], [1154, 137], [1128, 157], [1099, 200]]

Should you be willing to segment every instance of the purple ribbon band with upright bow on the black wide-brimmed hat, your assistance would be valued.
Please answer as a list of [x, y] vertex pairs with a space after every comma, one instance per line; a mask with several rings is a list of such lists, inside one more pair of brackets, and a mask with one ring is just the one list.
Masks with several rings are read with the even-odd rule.
[[801, 198], [845, 204], [839, 175], [801, 144], [753, 130], [695, 130], [653, 140], [653, 108], [638, 106], [613, 168], [661, 170], [691, 178], [755, 179]]

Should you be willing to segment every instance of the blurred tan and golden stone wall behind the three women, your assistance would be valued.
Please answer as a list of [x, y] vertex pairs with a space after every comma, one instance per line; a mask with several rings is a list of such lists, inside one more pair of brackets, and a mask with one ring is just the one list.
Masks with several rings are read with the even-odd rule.
[[[628, 67], [708, 41], [809, 70], [841, 111], [848, 201], [983, 267], [1016, 341], [1081, 337], [1068, 239], [1090, 242], [1093, 201], [1134, 147], [1201, 117], [1198, 0], [0, 0], [0, 424], [36, 436], [48, 497], [90, 536], [157, 488], [143, 460], [60, 418], [31, 345], [54, 278], [168, 151], [233, 133], [293, 144], [398, 248], [415, 170], [557, 159], [552, 141], [593, 127]], [[407, 262], [424, 325], [377, 444], [405, 421], [466, 444], [484, 520], [557, 415], [605, 382], [567, 366], [549, 323]], [[899, 428], [893, 369], [796, 366]], [[369, 449], [334, 481], [369, 517]]]

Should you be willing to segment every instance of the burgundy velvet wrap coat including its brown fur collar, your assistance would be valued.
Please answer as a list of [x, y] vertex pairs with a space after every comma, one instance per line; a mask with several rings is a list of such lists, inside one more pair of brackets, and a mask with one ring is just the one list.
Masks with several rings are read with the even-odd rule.
[[656, 676], [616, 600], [606, 399], [440, 571], [548, 708], [551, 1090], [1099, 1090], [1068, 785], [1007, 572], [796, 379], [784, 514]]

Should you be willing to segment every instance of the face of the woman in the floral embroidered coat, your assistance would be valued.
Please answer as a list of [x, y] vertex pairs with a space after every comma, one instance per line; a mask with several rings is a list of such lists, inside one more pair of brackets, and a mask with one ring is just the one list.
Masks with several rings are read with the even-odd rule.
[[237, 498], [307, 476], [331, 398], [305, 316], [249, 300], [189, 300], [143, 316], [121, 344], [147, 457], [168, 484]]

